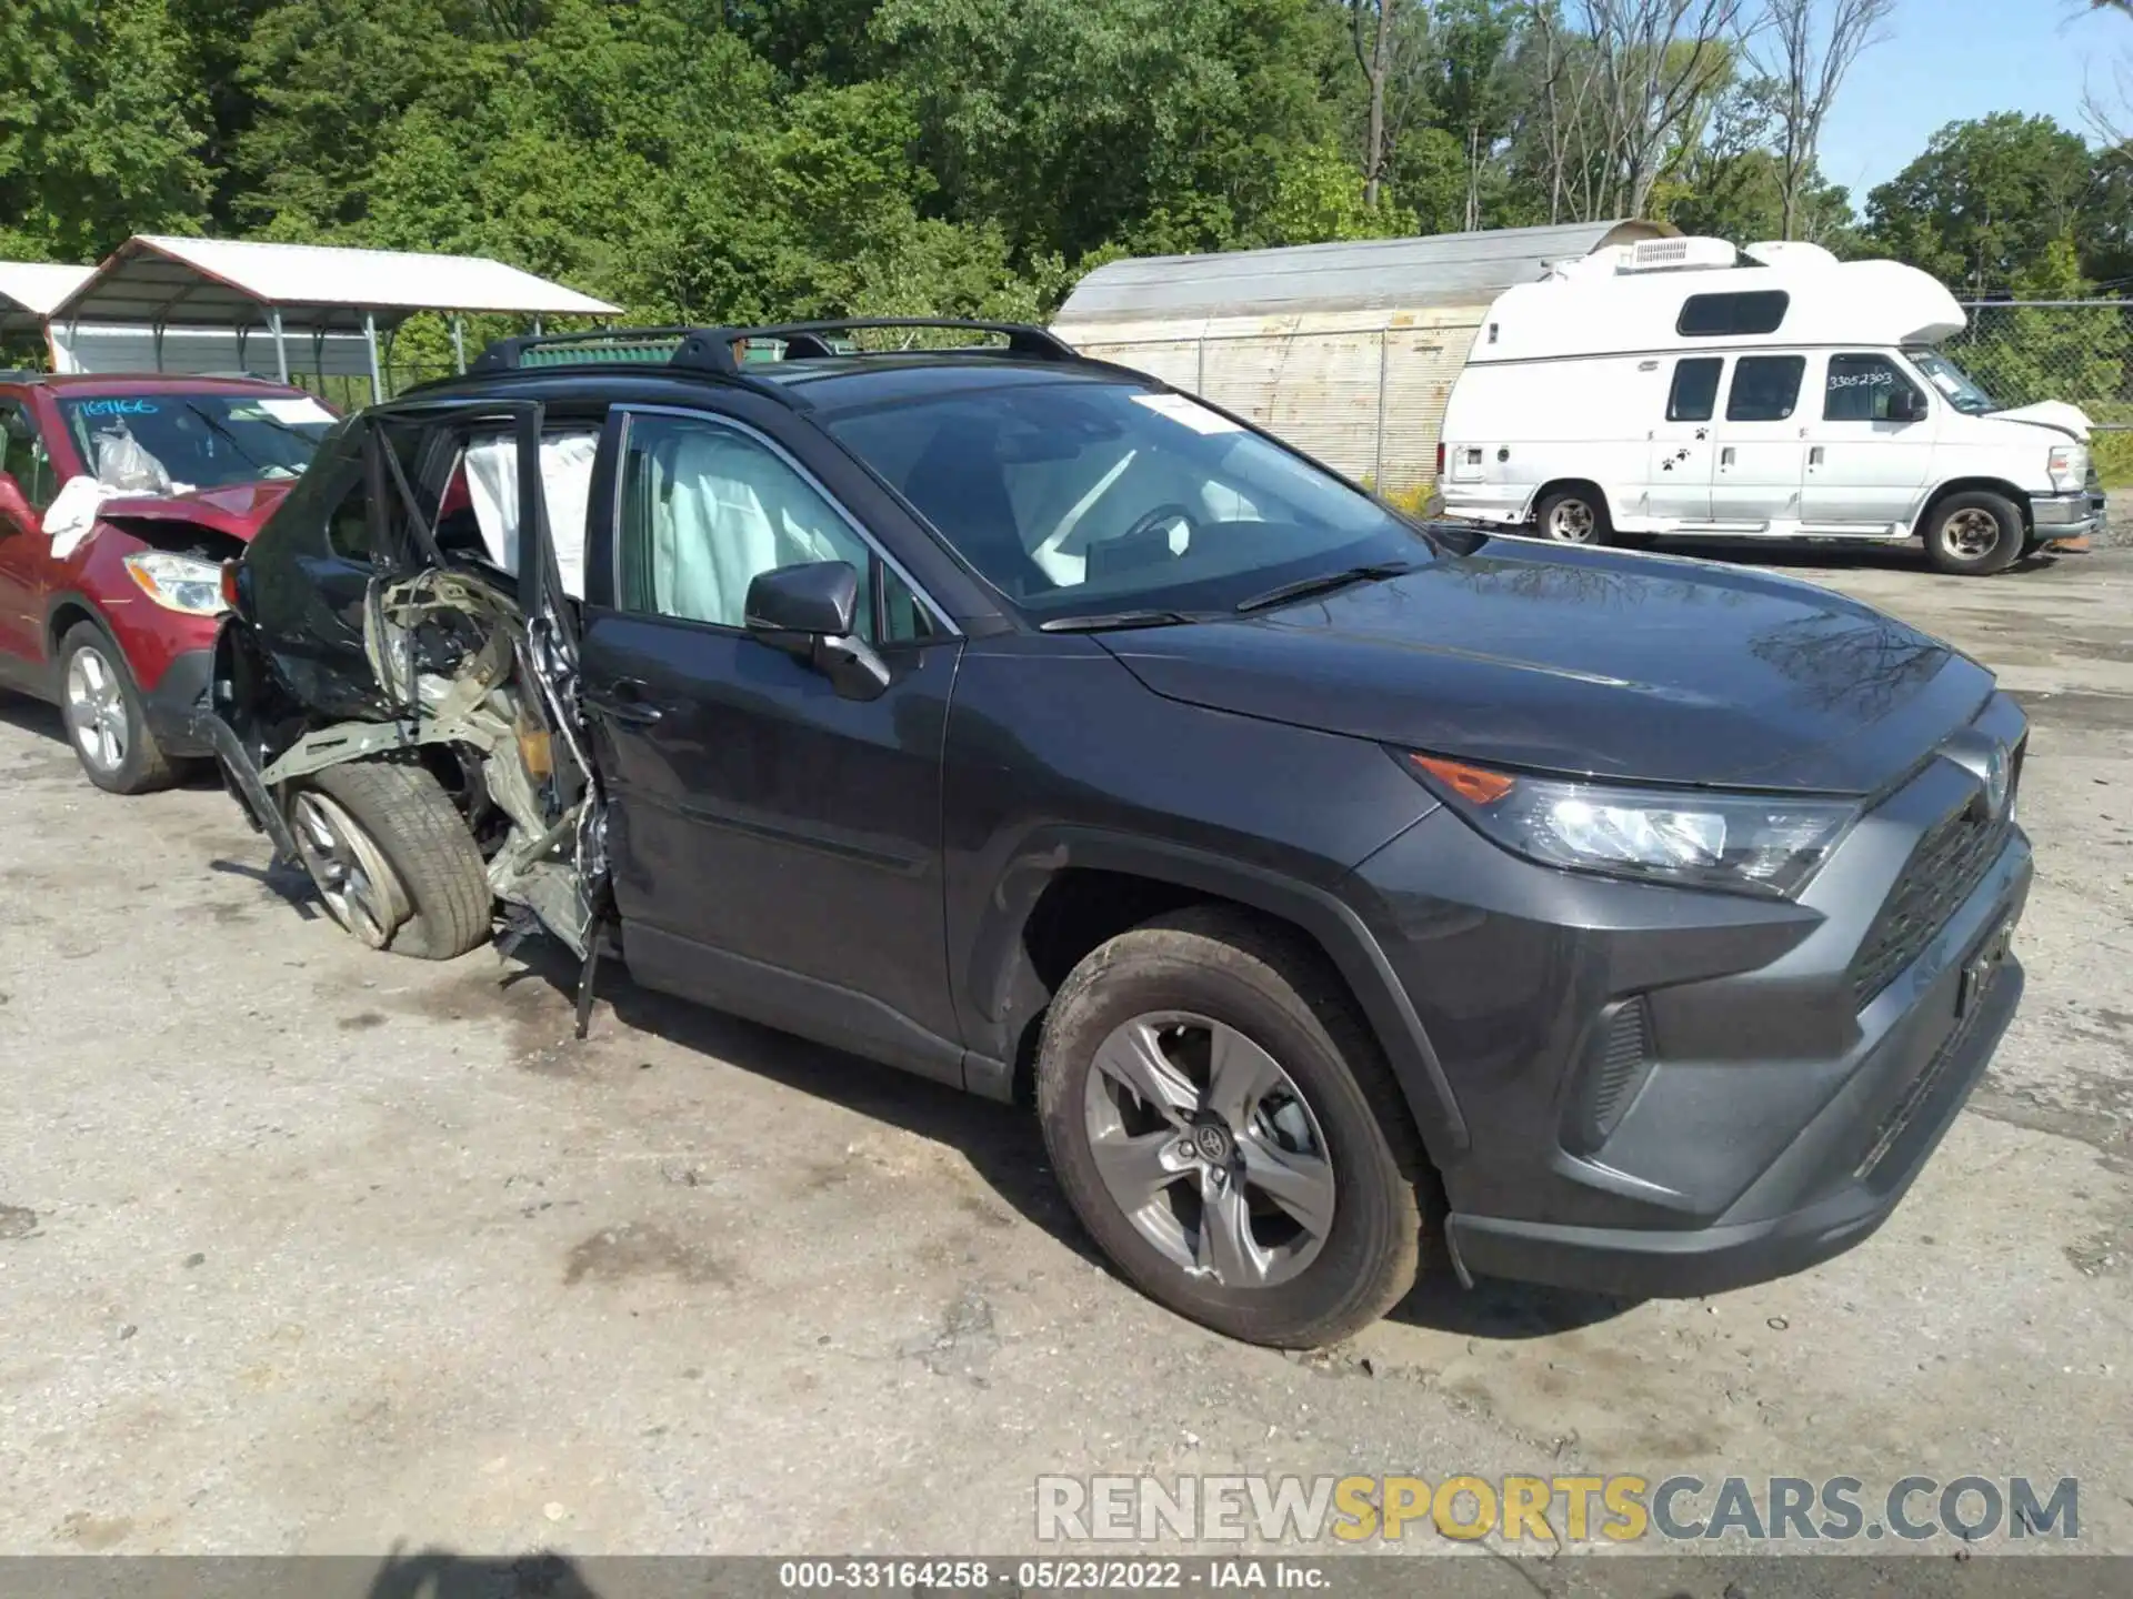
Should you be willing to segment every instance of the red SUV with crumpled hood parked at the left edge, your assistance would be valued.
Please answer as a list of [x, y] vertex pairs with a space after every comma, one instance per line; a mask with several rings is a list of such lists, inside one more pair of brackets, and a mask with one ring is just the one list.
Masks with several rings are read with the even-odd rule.
[[60, 706], [96, 787], [211, 753], [192, 718], [222, 561], [333, 422], [250, 377], [0, 373], [0, 687]]

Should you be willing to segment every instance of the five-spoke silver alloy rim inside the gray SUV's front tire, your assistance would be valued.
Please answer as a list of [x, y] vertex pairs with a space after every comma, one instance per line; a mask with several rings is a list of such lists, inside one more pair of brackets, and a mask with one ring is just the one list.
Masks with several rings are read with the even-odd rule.
[[1333, 1230], [1333, 1160], [1295, 1079], [1235, 1028], [1139, 1015], [1084, 1089], [1096, 1173], [1171, 1264], [1222, 1288], [1305, 1271]]

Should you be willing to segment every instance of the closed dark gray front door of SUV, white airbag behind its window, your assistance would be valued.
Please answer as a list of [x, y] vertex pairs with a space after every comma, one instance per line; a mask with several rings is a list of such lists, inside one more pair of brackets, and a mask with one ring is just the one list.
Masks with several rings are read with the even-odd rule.
[[[766, 435], [634, 411], [610, 439], [614, 561], [591, 578], [582, 676], [631, 974], [960, 1083], [941, 881], [958, 640]], [[747, 631], [749, 580], [804, 561], [862, 574], [879, 697]]]

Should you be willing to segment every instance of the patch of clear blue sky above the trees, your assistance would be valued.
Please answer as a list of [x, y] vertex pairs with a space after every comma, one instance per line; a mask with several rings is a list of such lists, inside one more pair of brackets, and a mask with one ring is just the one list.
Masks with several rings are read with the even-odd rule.
[[2043, 111], [2086, 132], [2082, 85], [2112, 90], [2133, 62], [2133, 21], [2086, 0], [1896, 0], [1888, 41], [1866, 51], [1822, 128], [1822, 171], [1866, 209], [1943, 124]]

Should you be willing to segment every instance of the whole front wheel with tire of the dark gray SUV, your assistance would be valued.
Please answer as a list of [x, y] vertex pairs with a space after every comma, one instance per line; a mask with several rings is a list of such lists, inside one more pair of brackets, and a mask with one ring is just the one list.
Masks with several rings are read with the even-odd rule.
[[1037, 1109], [1066, 1198], [1118, 1271], [1248, 1343], [1316, 1347], [1414, 1283], [1412, 1124], [1325, 959], [1199, 906], [1060, 985]]

